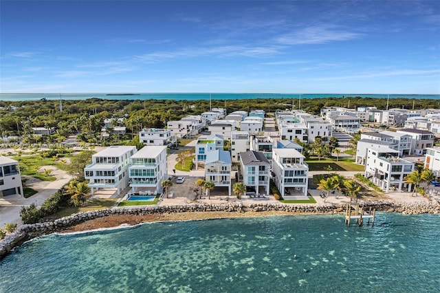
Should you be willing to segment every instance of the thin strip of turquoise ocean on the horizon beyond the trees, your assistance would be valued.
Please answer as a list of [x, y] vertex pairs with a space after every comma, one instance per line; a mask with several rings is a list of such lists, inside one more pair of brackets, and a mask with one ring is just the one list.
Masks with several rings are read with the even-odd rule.
[[[126, 94], [126, 93], [123, 93]], [[129, 93], [131, 94], [131, 93]], [[87, 98], [105, 98], [112, 100], [239, 100], [250, 98], [299, 98], [299, 94], [233, 94], [233, 93], [142, 93], [133, 96], [115, 95], [107, 96], [106, 93], [61, 93], [63, 100], [85, 100]], [[329, 98], [329, 97], [355, 97], [362, 98], [387, 98], [386, 94], [301, 94], [301, 98]], [[411, 99], [440, 99], [440, 95], [417, 95], [417, 94], [393, 94], [390, 98], [411, 98]], [[0, 94], [0, 100], [56, 100], [60, 98], [59, 93], [36, 93], [36, 94]]]

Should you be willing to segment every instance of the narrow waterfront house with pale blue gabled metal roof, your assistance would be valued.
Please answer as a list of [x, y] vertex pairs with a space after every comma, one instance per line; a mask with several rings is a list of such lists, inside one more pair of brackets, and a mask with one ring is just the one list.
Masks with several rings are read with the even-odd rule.
[[216, 149], [206, 154], [205, 180], [212, 181], [215, 187], [228, 188], [231, 195], [232, 161], [228, 151]]

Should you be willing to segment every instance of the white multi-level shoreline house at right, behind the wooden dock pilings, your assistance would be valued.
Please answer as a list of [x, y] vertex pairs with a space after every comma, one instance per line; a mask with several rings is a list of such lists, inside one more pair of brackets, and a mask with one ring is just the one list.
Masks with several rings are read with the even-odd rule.
[[405, 177], [414, 171], [414, 163], [399, 158], [394, 149], [368, 149], [364, 176], [385, 192], [411, 191]]

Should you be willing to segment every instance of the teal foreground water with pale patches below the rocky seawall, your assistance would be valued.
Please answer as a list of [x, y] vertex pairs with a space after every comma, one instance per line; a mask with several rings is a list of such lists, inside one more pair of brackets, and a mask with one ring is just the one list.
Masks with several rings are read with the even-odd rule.
[[374, 228], [308, 215], [50, 235], [0, 261], [0, 292], [439, 292], [439, 227], [378, 213]]

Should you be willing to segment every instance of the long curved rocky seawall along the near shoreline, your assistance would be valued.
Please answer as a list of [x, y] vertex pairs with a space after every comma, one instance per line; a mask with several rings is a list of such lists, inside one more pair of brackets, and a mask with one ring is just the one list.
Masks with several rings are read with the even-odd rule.
[[[393, 202], [364, 202], [364, 208], [375, 208], [386, 212], [404, 213], [407, 215], [417, 215], [422, 213], [440, 213], [440, 205], [437, 202], [415, 202], [411, 204], [395, 204]], [[228, 212], [246, 213], [252, 212], [287, 212], [292, 214], [338, 214], [344, 213], [345, 207], [341, 205], [293, 205], [278, 203], [261, 203], [244, 206], [241, 203], [230, 204], [181, 204], [176, 206], [131, 206], [123, 208], [107, 208], [104, 210], [93, 210], [84, 213], [77, 213], [69, 217], [63, 217], [54, 221], [46, 221], [32, 225], [22, 225], [15, 232], [7, 235], [0, 241], [0, 259], [17, 246], [21, 246], [25, 241], [59, 232], [70, 226], [96, 219], [99, 217], [109, 217], [113, 215], [152, 215], [164, 213], [194, 213], [194, 212]], [[234, 217], [231, 214], [231, 217]]]

